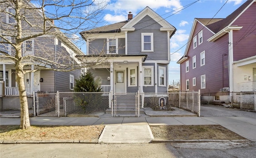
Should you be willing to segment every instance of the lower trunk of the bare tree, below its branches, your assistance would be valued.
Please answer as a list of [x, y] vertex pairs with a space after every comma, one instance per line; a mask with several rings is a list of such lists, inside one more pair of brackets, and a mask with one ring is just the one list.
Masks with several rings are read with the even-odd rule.
[[20, 92], [20, 129], [27, 129], [30, 127], [28, 100], [26, 96], [26, 89], [24, 84], [24, 74], [22, 70], [16, 68], [16, 82]]

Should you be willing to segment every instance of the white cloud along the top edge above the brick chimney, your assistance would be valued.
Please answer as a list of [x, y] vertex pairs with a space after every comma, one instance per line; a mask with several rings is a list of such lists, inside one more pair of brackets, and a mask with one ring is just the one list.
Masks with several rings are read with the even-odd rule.
[[182, 8], [180, 0], [117, 0], [113, 3], [110, 2], [106, 9], [114, 11], [116, 14], [124, 11], [136, 13], [146, 6], [153, 10], [164, 7], [168, 10], [176, 10], [176, 12], [178, 8]]

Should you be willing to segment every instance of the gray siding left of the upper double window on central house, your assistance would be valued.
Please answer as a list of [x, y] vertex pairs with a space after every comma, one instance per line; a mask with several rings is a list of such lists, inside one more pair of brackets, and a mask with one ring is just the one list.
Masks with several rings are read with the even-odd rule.
[[107, 53], [107, 39], [94, 39], [92, 41], [89, 41], [89, 55], [90, 54], [99, 54], [102, 51], [104, 53]]

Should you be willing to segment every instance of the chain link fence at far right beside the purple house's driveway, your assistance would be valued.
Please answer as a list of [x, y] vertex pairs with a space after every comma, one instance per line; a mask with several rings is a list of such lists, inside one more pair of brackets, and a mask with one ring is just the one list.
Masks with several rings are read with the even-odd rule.
[[242, 110], [256, 111], [256, 92], [230, 92], [231, 106]]

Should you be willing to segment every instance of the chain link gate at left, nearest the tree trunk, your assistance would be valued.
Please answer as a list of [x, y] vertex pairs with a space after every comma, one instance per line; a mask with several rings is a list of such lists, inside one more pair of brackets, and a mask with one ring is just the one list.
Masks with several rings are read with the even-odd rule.
[[57, 93], [36, 94], [38, 116], [59, 116]]

